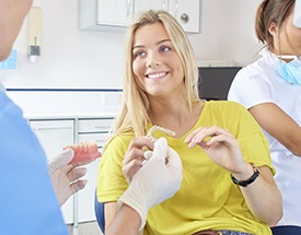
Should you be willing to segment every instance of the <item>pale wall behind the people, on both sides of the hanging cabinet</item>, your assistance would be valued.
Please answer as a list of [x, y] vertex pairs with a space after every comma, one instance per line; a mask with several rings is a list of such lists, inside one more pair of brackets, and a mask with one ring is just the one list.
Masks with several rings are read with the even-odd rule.
[[[261, 0], [201, 0], [201, 33], [189, 35], [198, 60], [232, 59], [246, 64], [259, 48], [254, 36]], [[120, 89], [124, 35], [78, 30], [77, 0], [35, 0], [42, 7], [42, 56], [28, 61], [27, 22], [14, 49], [18, 70], [0, 71], [7, 87]]]

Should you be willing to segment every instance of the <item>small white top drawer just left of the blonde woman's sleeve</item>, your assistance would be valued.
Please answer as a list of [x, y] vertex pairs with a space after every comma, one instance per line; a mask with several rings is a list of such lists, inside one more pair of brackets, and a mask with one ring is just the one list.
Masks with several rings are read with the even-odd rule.
[[114, 118], [79, 119], [79, 132], [107, 132]]

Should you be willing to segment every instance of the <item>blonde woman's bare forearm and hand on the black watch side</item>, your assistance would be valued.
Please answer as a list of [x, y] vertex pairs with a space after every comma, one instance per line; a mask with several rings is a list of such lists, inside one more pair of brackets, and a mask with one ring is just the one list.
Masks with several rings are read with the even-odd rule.
[[[217, 126], [201, 127], [188, 134], [185, 141], [188, 148], [200, 145], [216, 164], [241, 181], [254, 174], [251, 164], [243, 158], [239, 141], [225, 129]], [[271, 171], [267, 166], [262, 166], [259, 173], [261, 175], [252, 184], [240, 189], [252, 213], [273, 226], [282, 216], [281, 195], [276, 187]]]

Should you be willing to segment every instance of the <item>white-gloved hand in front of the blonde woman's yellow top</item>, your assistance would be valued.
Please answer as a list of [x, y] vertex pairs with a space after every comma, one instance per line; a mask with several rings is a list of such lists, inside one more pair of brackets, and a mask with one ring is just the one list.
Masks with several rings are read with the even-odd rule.
[[141, 230], [149, 209], [173, 197], [180, 189], [182, 179], [178, 154], [167, 145], [165, 138], [160, 138], [154, 143], [152, 156], [134, 175], [118, 203], [126, 203], [139, 213]]

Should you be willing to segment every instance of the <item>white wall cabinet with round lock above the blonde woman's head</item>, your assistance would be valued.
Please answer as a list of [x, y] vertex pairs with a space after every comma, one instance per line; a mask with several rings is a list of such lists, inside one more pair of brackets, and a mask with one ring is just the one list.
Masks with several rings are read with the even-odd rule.
[[169, 11], [187, 33], [199, 33], [200, 0], [78, 0], [80, 30], [124, 31], [146, 10]]

